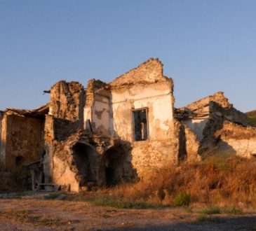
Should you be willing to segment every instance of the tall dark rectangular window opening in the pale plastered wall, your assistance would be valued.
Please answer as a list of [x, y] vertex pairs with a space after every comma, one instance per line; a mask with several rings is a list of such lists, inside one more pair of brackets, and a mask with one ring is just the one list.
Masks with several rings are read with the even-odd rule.
[[148, 139], [148, 119], [147, 109], [139, 109], [133, 111], [133, 127], [134, 127], [134, 140], [145, 141]]

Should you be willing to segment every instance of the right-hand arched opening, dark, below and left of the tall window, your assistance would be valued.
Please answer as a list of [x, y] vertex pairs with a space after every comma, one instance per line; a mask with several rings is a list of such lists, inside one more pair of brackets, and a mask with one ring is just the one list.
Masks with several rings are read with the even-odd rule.
[[124, 177], [124, 160], [126, 154], [121, 148], [109, 148], [104, 156], [105, 185], [108, 187], [120, 183]]

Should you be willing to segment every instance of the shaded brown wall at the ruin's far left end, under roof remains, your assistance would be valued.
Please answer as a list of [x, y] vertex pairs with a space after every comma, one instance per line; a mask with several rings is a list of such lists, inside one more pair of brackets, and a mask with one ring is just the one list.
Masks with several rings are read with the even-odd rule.
[[7, 171], [40, 160], [43, 156], [43, 121], [17, 115], [5, 115], [1, 156]]

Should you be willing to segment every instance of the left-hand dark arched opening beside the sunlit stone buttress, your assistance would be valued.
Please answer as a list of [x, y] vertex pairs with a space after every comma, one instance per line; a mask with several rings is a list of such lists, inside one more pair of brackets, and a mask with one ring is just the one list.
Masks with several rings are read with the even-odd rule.
[[79, 179], [79, 186], [86, 186], [89, 182], [95, 182], [95, 150], [90, 146], [82, 143], [77, 143], [73, 147], [74, 160], [78, 174], [76, 177]]

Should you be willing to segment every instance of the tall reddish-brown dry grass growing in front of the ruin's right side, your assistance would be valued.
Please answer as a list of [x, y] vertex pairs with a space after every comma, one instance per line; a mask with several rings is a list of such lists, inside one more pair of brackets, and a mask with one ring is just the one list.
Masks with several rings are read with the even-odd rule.
[[135, 184], [102, 190], [112, 200], [173, 204], [177, 195], [191, 203], [220, 207], [256, 206], [256, 160], [217, 155], [202, 162], [155, 170]]

